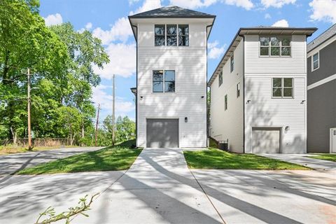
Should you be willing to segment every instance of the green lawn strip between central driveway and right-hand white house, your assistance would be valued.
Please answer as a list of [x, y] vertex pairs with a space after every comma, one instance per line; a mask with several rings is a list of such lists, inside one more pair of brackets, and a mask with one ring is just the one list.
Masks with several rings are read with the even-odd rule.
[[183, 153], [191, 169], [310, 169], [260, 155], [228, 153], [216, 148]]

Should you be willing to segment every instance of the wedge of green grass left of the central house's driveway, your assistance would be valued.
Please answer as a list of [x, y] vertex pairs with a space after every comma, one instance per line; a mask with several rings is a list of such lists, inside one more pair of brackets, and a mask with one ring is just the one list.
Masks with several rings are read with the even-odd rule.
[[133, 149], [132, 145], [134, 145], [134, 141], [127, 141], [115, 147], [81, 153], [46, 162], [36, 167], [22, 169], [17, 174], [57, 174], [129, 169], [141, 153], [141, 149]]

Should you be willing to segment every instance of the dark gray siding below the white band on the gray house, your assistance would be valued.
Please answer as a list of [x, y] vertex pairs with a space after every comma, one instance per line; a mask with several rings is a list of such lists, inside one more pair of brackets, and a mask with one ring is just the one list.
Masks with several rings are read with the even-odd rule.
[[329, 153], [330, 128], [336, 127], [336, 80], [308, 90], [307, 101], [307, 152]]

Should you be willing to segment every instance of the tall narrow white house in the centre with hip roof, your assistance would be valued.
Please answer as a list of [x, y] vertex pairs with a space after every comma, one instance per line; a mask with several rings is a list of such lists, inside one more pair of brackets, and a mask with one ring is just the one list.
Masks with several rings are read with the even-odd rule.
[[137, 147], [207, 146], [207, 39], [215, 16], [169, 6], [131, 15]]

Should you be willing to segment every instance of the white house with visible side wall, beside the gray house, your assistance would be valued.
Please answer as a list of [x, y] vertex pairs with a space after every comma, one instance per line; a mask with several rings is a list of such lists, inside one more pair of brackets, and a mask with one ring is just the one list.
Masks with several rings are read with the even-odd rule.
[[209, 80], [209, 134], [237, 153], [307, 152], [307, 36], [241, 28]]

